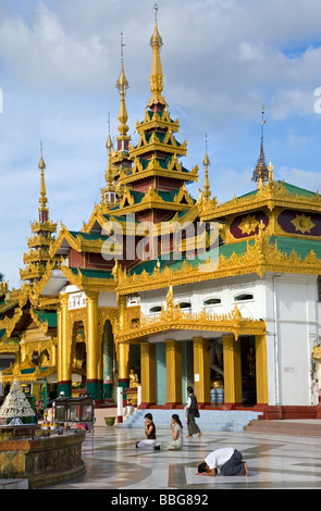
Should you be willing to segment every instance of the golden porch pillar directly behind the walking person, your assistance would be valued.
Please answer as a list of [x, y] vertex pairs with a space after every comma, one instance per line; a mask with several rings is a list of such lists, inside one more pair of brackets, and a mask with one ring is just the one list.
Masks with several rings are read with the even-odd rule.
[[203, 337], [193, 339], [194, 392], [200, 404], [211, 402], [210, 341]]

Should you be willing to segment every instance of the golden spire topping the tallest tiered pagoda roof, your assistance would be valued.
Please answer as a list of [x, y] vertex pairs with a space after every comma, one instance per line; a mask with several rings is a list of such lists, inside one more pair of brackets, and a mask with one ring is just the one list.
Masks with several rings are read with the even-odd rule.
[[166, 102], [164, 98], [162, 97], [161, 92], [163, 90], [163, 70], [162, 70], [162, 63], [160, 59], [160, 50], [161, 47], [163, 46], [162, 38], [160, 36], [160, 33], [158, 30], [158, 25], [157, 25], [157, 12], [158, 12], [158, 5], [157, 3], [155, 4], [155, 28], [152, 36], [150, 38], [150, 46], [152, 48], [152, 63], [151, 63], [151, 72], [150, 72], [150, 91], [152, 92], [152, 97], [150, 98], [147, 107], [152, 107], [156, 104], [162, 104], [163, 107], [166, 107]]

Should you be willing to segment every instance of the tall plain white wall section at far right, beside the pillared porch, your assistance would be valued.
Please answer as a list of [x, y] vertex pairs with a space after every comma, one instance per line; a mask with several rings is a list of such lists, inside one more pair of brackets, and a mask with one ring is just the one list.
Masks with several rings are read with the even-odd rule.
[[269, 403], [317, 404], [312, 350], [318, 336], [317, 279], [267, 275]]

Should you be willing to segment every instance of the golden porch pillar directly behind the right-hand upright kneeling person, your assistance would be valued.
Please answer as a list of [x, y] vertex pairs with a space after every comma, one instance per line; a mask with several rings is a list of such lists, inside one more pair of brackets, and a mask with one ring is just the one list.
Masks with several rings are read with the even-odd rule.
[[166, 407], [182, 403], [182, 345], [169, 339], [166, 346]]

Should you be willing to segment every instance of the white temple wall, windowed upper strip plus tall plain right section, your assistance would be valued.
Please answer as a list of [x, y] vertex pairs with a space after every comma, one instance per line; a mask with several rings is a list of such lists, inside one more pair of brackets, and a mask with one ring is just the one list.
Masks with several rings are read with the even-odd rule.
[[[235, 301], [239, 294], [252, 295], [252, 298]], [[152, 307], [161, 303], [165, 307], [165, 297], [166, 289], [141, 292], [141, 312], [152, 315], [149, 312]], [[210, 313], [226, 314], [237, 303], [244, 317], [267, 322], [269, 404], [318, 403], [312, 360], [314, 342], [321, 338], [317, 276], [267, 273], [263, 278], [235, 276], [174, 288], [175, 303], [189, 302], [192, 312], [200, 312], [209, 298], [221, 300], [206, 307]]]

